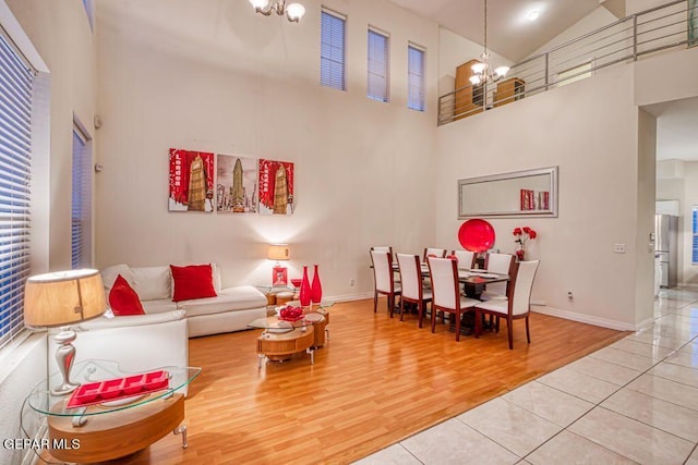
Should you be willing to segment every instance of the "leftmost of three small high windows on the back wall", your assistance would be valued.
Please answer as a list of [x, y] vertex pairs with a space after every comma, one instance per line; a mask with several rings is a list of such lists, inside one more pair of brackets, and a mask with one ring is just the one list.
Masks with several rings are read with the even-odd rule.
[[347, 17], [323, 10], [320, 39], [320, 84], [347, 89], [345, 69], [345, 24]]

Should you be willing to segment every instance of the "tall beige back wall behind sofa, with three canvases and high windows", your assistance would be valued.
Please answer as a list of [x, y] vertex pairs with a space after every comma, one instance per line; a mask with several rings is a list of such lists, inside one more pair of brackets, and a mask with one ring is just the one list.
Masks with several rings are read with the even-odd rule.
[[[98, 2], [99, 267], [215, 260], [225, 285], [268, 284], [266, 244], [282, 241], [289, 278], [320, 264], [327, 296], [366, 295], [371, 245], [433, 244], [437, 25], [387, 2], [324, 3], [348, 15], [339, 91], [318, 84], [321, 3], [304, 4], [290, 24], [242, 1]], [[389, 103], [365, 96], [369, 25], [390, 34]], [[425, 112], [406, 108], [408, 41], [426, 49]], [[294, 162], [296, 212], [168, 212], [170, 147]]]

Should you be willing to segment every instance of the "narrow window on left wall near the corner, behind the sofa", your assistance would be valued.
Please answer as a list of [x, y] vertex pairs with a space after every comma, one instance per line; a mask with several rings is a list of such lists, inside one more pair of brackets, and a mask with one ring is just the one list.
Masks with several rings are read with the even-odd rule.
[[92, 147], [77, 124], [73, 126], [73, 191], [71, 212], [71, 266], [92, 265]]

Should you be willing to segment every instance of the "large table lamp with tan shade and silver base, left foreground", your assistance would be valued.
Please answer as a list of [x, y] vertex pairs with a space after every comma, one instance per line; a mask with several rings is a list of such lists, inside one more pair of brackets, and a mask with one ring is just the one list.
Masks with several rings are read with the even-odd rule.
[[24, 287], [24, 323], [27, 327], [62, 327], [53, 340], [58, 344], [56, 362], [63, 376], [53, 395], [65, 395], [77, 384], [70, 381], [75, 358], [72, 342], [77, 336], [70, 325], [96, 318], [105, 313], [107, 302], [99, 271], [93, 269], [57, 271], [26, 280]]

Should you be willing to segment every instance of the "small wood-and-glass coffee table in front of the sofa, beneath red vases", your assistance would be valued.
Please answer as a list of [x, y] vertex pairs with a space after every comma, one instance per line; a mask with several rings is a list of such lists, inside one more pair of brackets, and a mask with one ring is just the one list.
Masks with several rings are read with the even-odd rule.
[[[287, 305], [298, 307], [296, 301]], [[328, 309], [334, 302], [323, 302], [317, 306], [304, 308], [302, 318], [288, 321], [280, 319], [277, 307], [277, 315], [260, 318], [248, 325], [251, 328], [263, 329], [257, 338], [257, 368], [262, 368], [264, 360], [285, 362], [293, 354], [305, 352], [310, 355], [311, 365], [315, 364], [315, 350], [325, 345], [329, 339]]]

